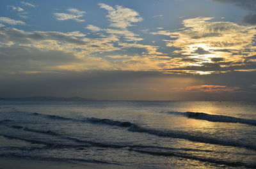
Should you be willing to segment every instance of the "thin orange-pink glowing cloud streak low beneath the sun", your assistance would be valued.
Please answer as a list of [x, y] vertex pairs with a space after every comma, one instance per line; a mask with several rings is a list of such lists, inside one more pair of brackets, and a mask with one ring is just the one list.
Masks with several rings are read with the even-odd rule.
[[189, 92], [237, 92], [239, 87], [227, 87], [226, 85], [195, 85], [186, 87]]

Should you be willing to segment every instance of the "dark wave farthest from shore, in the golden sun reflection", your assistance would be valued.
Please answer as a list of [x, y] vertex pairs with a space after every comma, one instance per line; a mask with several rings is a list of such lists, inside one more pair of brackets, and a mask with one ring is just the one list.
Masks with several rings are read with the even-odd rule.
[[214, 115], [214, 114], [205, 114], [205, 113], [198, 113], [198, 112], [166, 112], [166, 113], [183, 115], [191, 119], [199, 119], [199, 120], [205, 120], [205, 121], [211, 121], [211, 122], [234, 122], [234, 123], [238, 122], [242, 124], [256, 126], [255, 120], [242, 119], [242, 118], [232, 117], [227, 115]]

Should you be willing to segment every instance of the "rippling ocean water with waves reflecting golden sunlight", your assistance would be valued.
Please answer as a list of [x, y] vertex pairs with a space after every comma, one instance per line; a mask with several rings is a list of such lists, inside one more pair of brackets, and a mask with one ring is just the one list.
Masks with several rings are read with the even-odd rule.
[[256, 168], [256, 103], [0, 101], [0, 127], [1, 158]]

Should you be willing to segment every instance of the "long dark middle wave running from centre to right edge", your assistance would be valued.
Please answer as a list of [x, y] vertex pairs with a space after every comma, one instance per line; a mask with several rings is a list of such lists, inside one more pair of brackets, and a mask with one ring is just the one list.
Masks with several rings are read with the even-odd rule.
[[[208, 138], [205, 136], [195, 136], [195, 135], [186, 133], [184, 131], [161, 131], [158, 129], [143, 128], [131, 122], [113, 121], [111, 119], [102, 119], [102, 121], [100, 121], [100, 119], [97, 119], [97, 121], [91, 121], [91, 122], [108, 124], [111, 126], [120, 126], [122, 128], [128, 128], [127, 130], [132, 132], [148, 133], [150, 135], [157, 135], [157, 136], [170, 137], [170, 138], [181, 138], [181, 139], [189, 140], [191, 142], [210, 143], [210, 144], [216, 144], [216, 145], [242, 147], [246, 149], [256, 150], [256, 146], [254, 145], [247, 145], [243, 143], [232, 142], [232, 140], [218, 140], [216, 138]], [[129, 125], [126, 126], [122, 124], [129, 124]]]

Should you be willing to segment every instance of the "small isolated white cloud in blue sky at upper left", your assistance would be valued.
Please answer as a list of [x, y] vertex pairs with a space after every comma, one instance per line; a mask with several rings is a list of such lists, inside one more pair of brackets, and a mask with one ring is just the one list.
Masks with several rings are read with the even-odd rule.
[[81, 19], [84, 16], [85, 11], [79, 11], [76, 8], [68, 8], [67, 11], [70, 13], [53, 13], [56, 20], [76, 20], [77, 22], [84, 22]]

